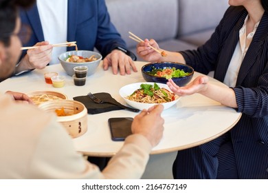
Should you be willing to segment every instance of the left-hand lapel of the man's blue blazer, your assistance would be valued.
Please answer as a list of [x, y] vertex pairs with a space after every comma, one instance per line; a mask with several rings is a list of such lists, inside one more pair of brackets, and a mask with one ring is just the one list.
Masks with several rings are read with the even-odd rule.
[[34, 4], [32, 9], [27, 10], [26, 14], [29, 19], [32, 30], [34, 34], [36, 34], [38, 42], [44, 41], [45, 38], [43, 34], [43, 28], [42, 28], [42, 24], [41, 24], [41, 20], [38, 14], [38, 9], [37, 9], [36, 4]]

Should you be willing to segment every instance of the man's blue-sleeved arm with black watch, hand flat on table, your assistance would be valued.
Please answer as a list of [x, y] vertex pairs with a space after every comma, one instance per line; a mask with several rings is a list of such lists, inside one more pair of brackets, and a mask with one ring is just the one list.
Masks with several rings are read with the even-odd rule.
[[109, 16], [105, 1], [98, 1], [98, 33], [95, 47], [100, 51], [103, 59], [103, 69], [112, 68], [113, 74], [121, 75], [137, 72], [133, 60], [135, 54], [127, 50], [126, 43], [116, 30]]

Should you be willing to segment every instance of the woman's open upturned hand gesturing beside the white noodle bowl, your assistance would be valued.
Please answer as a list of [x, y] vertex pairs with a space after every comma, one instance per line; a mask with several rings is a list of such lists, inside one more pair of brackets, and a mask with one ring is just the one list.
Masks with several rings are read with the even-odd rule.
[[199, 76], [183, 87], [176, 85], [172, 79], [168, 79], [166, 84], [175, 94], [179, 96], [187, 96], [194, 93], [204, 92], [208, 88], [208, 77], [203, 75]]

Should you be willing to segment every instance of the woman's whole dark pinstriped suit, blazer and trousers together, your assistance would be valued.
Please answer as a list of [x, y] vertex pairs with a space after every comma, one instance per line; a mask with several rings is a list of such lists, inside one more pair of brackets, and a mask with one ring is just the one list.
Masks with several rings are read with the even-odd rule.
[[[181, 52], [186, 63], [204, 74], [215, 70], [214, 78], [223, 81], [246, 16], [243, 7], [228, 8], [210, 40]], [[240, 121], [213, 141], [179, 151], [173, 165], [176, 179], [268, 179], [268, 12], [233, 89], [237, 111], [243, 113]]]

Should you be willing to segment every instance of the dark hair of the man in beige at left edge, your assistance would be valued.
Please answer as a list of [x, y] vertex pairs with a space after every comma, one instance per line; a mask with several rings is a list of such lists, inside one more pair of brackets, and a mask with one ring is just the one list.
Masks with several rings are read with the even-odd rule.
[[16, 26], [18, 8], [29, 8], [36, 0], [0, 0], [0, 41], [10, 45], [10, 36]]

